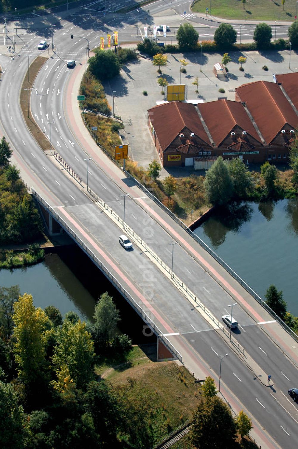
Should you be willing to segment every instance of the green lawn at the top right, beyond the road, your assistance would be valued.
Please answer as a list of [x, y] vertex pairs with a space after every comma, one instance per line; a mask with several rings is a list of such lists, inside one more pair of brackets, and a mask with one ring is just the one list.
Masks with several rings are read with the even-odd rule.
[[[198, 0], [192, 7], [194, 13], [206, 13], [210, 0]], [[293, 21], [296, 0], [286, 0], [284, 6], [275, 0], [212, 0], [211, 15], [227, 19]], [[209, 11], [208, 11], [209, 14]]]

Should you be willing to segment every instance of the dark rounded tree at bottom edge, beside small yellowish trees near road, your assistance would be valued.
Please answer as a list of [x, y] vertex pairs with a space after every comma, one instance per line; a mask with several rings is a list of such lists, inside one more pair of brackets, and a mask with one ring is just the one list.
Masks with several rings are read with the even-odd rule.
[[236, 424], [229, 406], [218, 396], [201, 401], [192, 419], [190, 438], [200, 449], [233, 447]]

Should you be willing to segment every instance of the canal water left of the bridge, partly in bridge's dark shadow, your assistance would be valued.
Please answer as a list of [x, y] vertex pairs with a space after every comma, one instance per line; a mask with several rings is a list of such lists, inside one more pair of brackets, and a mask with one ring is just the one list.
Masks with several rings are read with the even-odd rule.
[[20, 293], [30, 293], [35, 307], [54, 305], [62, 316], [69, 310], [86, 321], [93, 319], [95, 304], [106, 291], [120, 310], [118, 329], [133, 343], [152, 343], [154, 337], [143, 335], [143, 321], [134, 312], [95, 264], [77, 245], [55, 249], [45, 260], [28, 268], [0, 270], [0, 286], [20, 286]]

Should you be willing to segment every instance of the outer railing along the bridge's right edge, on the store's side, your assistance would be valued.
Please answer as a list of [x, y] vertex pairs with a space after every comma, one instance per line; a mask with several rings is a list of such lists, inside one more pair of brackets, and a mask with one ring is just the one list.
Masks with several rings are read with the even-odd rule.
[[225, 263], [224, 260], [222, 260], [219, 255], [216, 254], [208, 245], [206, 245], [203, 240], [201, 240], [188, 226], [186, 226], [183, 221], [181, 221], [176, 215], [173, 214], [172, 211], [168, 209], [168, 207], [164, 206], [164, 204], [156, 198], [144, 185], [142, 185], [134, 176], [132, 176], [129, 172], [126, 172], [125, 174], [134, 180], [136, 185], [141, 189], [149, 198], [152, 199], [161, 209], [163, 209], [173, 220], [176, 221], [176, 223], [181, 226], [182, 229], [184, 229], [194, 240], [201, 245], [201, 247], [207, 251], [208, 254], [210, 254], [239, 284], [253, 297], [255, 298], [258, 303], [274, 318], [283, 328], [286, 332], [288, 332], [289, 335], [295, 340], [298, 341], [298, 335], [295, 334], [295, 332], [285, 324], [282, 319], [276, 315], [275, 312], [263, 301], [263, 299], [249, 286], [246, 284], [243, 279], [238, 276], [237, 273], [228, 265]]

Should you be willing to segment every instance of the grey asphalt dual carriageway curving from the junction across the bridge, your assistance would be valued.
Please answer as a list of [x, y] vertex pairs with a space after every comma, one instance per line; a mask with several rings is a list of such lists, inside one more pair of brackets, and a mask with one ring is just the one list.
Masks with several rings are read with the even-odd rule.
[[[76, 20], [81, 20], [79, 15]], [[32, 114], [41, 131], [49, 136], [48, 122], [54, 122], [52, 124], [53, 147], [85, 182], [86, 162], [83, 159], [87, 155], [65, 120], [63, 93], [72, 74], [72, 70], [66, 67], [66, 61], [73, 58], [73, 55], [76, 55], [77, 62], [82, 61], [85, 56], [86, 40], [80, 36], [86, 37], [91, 47], [99, 43], [100, 35], [91, 28], [88, 29], [89, 24], [91, 24], [91, 18], [83, 19], [83, 23], [78, 22], [76, 25], [66, 20], [61, 22], [61, 27], [53, 36], [55, 44], [53, 59], [49, 59], [40, 70], [31, 96]], [[83, 27], [81, 28], [80, 25]], [[107, 24], [101, 24], [102, 28], [104, 26], [106, 27]], [[129, 32], [125, 34], [123, 29], [123, 41], [131, 39]], [[70, 39], [70, 34], [75, 36], [73, 40]], [[28, 66], [27, 55], [33, 57], [43, 54], [36, 49], [38, 42], [39, 38], [33, 39], [32, 35], [28, 34], [26, 40], [28, 47], [20, 52], [20, 56], [17, 56], [14, 61], [0, 58], [4, 68], [0, 96], [6, 111], [1, 116], [5, 134], [25, 162], [26, 169], [30, 169], [35, 174], [40, 185], [39, 193], [50, 198], [51, 205], [57, 207], [57, 211], [66, 214], [64, 217], [69, 221], [69, 225], [71, 220], [75, 220], [78, 224], [76, 232], [81, 238], [86, 238], [85, 234], [88, 234], [86, 243], [93, 247], [99, 258], [103, 257], [103, 251], [108, 254], [109, 261], [106, 262], [114, 264], [114, 274], [119, 276], [120, 281], [123, 282], [123, 276], [130, 281], [127, 288], [131, 294], [134, 294], [134, 289], [137, 289], [143, 296], [145, 302], [141, 304], [151, 319], [158, 323], [164, 333], [171, 334], [169, 330], [173, 331], [198, 352], [213, 371], [215, 378], [218, 374], [219, 357], [229, 353], [229, 357], [223, 362], [225, 363], [222, 371], [223, 391], [237, 396], [249, 414], [270, 433], [276, 441], [276, 445], [272, 447], [278, 447], [277, 445], [282, 448], [295, 447], [298, 409], [292, 401], [289, 401], [287, 390], [295, 386], [297, 368], [261, 328], [261, 326], [277, 326], [277, 324], [258, 325], [244, 309], [234, 306], [233, 315], [241, 326], [238, 335], [235, 336], [260, 368], [273, 376], [274, 387], [269, 388], [254, 378], [247, 366], [231, 352], [217, 332], [186, 301], [168, 278], [147, 260], [143, 251], [138, 247], [134, 247], [134, 251], [131, 252], [123, 251], [118, 244], [121, 230], [86, 197], [77, 184], [65, 176], [61, 167], [53, 163], [53, 156], [44, 154], [39, 149], [30, 135], [23, 121], [18, 98]], [[51, 50], [50, 54], [52, 54]], [[24, 166], [20, 168], [23, 170]], [[88, 174], [91, 189], [122, 216], [123, 199], [120, 195], [124, 194], [123, 190], [95, 163], [89, 164]], [[139, 207], [137, 201], [127, 198], [125, 212], [125, 221], [128, 225], [170, 266], [172, 258], [172, 247], [169, 246], [172, 242], [170, 234], [164, 227], [153, 221]], [[147, 228], [151, 229], [150, 234], [147, 233]], [[119, 274], [119, 271], [122, 274]], [[144, 273], [147, 271], [154, 282], [144, 278]], [[214, 282], [202, 265], [179, 244], [174, 248], [173, 271], [218, 319], [229, 311], [228, 306], [233, 302], [230, 295], [217, 282]], [[143, 282], [140, 282], [141, 279]], [[164, 323], [167, 326], [164, 326]], [[175, 339], [178, 337], [176, 336]], [[168, 338], [174, 344], [174, 339], [170, 336]]]

